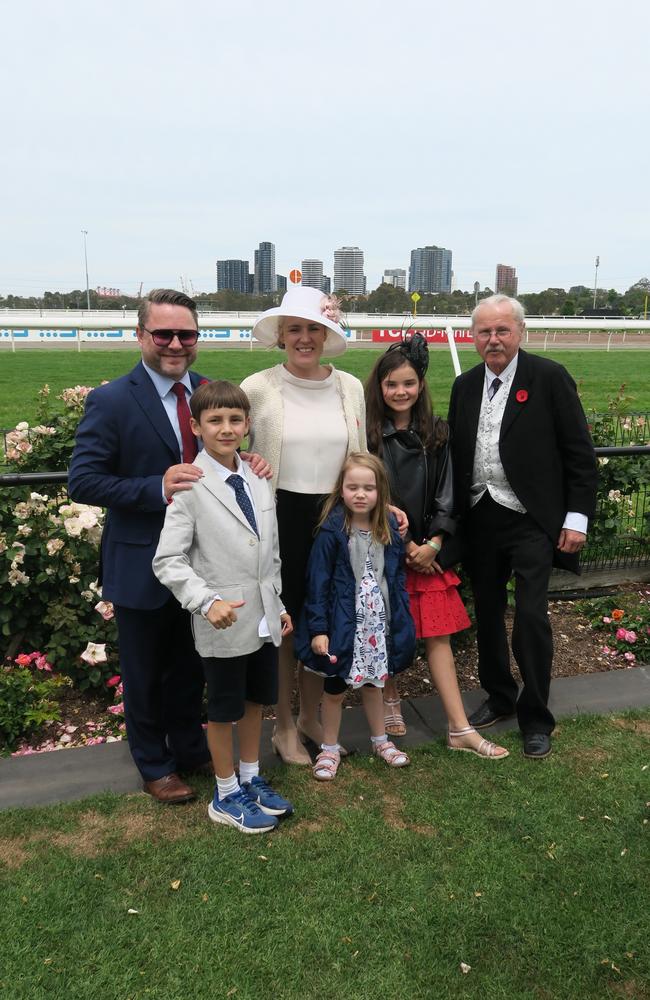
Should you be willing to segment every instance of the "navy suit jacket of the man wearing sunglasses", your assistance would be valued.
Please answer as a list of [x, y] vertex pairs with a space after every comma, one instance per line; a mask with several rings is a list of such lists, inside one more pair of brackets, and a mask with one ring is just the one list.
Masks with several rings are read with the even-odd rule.
[[[190, 372], [190, 381], [196, 388], [202, 378]], [[151, 562], [167, 509], [162, 477], [180, 461], [176, 435], [141, 363], [88, 395], [68, 492], [80, 503], [108, 508], [101, 560], [105, 600], [143, 610], [169, 600]]]

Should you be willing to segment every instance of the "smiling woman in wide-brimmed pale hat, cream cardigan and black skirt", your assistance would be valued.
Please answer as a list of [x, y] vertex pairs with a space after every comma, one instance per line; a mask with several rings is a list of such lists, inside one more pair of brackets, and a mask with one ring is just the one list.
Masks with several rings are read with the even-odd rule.
[[[282, 598], [297, 622], [305, 570], [321, 501], [346, 456], [366, 451], [363, 386], [321, 364], [346, 348], [338, 302], [316, 288], [293, 288], [253, 327], [256, 340], [286, 352], [284, 361], [242, 382], [251, 403], [251, 448], [273, 468], [282, 557]], [[311, 764], [301, 739], [321, 743], [318, 708], [323, 680], [299, 667], [300, 714], [291, 712], [296, 661], [293, 641], [280, 649], [280, 688], [273, 748], [288, 764]]]

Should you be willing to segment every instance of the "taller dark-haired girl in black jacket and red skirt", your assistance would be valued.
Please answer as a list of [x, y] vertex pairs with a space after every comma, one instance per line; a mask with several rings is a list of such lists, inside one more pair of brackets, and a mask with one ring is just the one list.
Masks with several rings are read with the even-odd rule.
[[[483, 739], [467, 721], [449, 637], [470, 625], [450, 567], [454, 551], [453, 486], [449, 431], [433, 415], [425, 374], [428, 348], [421, 334], [394, 344], [366, 383], [368, 448], [384, 463], [391, 499], [409, 520], [406, 589], [416, 635], [424, 639], [431, 678], [447, 714], [447, 746], [498, 759], [508, 751]], [[386, 732], [403, 736], [397, 684], [384, 687]]]

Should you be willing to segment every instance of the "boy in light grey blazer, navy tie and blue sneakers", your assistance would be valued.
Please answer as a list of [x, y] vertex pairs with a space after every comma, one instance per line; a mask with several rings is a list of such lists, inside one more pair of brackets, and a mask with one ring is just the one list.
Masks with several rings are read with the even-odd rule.
[[237, 454], [249, 430], [246, 394], [209, 382], [190, 407], [203, 442], [194, 464], [204, 475], [167, 508], [153, 571], [192, 615], [203, 661], [217, 782], [208, 815], [242, 833], [266, 833], [293, 811], [259, 774], [262, 706], [277, 701], [278, 646], [292, 632], [280, 599], [275, 502], [267, 481], [249, 476]]

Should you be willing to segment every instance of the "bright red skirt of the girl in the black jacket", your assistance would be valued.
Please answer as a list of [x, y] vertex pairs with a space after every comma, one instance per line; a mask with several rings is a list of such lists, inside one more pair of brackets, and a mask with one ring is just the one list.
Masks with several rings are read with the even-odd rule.
[[406, 589], [418, 639], [462, 632], [472, 624], [460, 599], [459, 578], [453, 570], [416, 573], [406, 569]]

